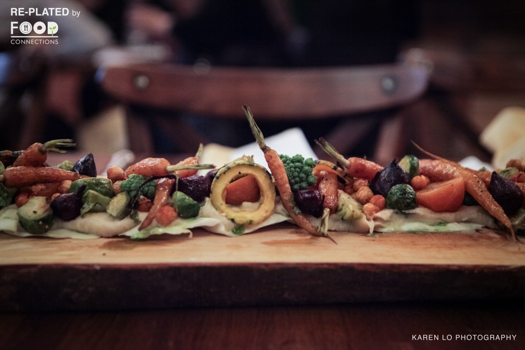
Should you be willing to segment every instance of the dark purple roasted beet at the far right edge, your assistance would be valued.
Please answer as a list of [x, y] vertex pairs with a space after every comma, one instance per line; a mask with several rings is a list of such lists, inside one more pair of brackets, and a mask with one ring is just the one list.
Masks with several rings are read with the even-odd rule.
[[520, 187], [497, 172], [492, 172], [488, 190], [507, 215], [516, 214], [523, 206], [525, 198]]

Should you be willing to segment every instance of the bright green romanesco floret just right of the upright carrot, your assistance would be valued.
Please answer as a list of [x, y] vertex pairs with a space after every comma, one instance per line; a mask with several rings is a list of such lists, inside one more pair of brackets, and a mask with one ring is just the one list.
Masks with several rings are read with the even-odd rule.
[[300, 154], [293, 157], [281, 154], [279, 155], [282, 163], [285, 164], [288, 182], [293, 192], [300, 189], [307, 189], [317, 182], [317, 178], [312, 174], [312, 169], [316, 163], [312, 158], [306, 158]]

